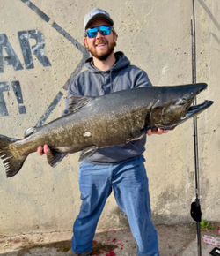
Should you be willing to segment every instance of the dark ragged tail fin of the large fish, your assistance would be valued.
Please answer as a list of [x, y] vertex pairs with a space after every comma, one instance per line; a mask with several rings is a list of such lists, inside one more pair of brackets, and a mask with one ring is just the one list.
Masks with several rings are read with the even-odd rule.
[[10, 146], [17, 140], [0, 135], [0, 157], [4, 163], [7, 177], [15, 176], [26, 160], [26, 156], [14, 156], [11, 152]]

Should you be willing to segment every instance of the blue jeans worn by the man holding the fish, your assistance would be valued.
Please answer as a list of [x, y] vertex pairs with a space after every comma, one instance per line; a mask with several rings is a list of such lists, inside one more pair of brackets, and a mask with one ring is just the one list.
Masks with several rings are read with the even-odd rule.
[[99, 216], [107, 197], [114, 198], [128, 216], [138, 256], [159, 256], [158, 234], [150, 216], [148, 178], [144, 158], [114, 165], [95, 165], [82, 162], [79, 169], [81, 192], [80, 213], [73, 226], [72, 250], [90, 252]]

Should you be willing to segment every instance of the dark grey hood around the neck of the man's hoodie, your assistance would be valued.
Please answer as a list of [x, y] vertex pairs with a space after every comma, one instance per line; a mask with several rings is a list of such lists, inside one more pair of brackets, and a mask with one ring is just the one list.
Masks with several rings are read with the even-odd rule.
[[[128, 64], [130, 64], [130, 61], [128, 60], [128, 57], [125, 56], [123, 52], [117, 51], [117, 52], [115, 52], [114, 56], [115, 56], [115, 58], [116, 58], [115, 64], [114, 64], [109, 70], [107, 70], [107, 71], [105, 71], [105, 72], [117, 71], [117, 70], [120, 70], [120, 69], [123, 68], [123, 67], [126, 67]], [[94, 66], [94, 64], [93, 64], [93, 58], [92, 58], [92, 57], [88, 58], [88, 59], [85, 61], [84, 66], [85, 66], [86, 68], [88, 68], [88, 70], [89, 70], [90, 72], [95, 72], [95, 73], [97, 73], [97, 72], [99, 72], [99, 73], [100, 73], [100, 72], [103, 72], [103, 71], [100, 71], [98, 68], [96, 68], [96, 67]]]

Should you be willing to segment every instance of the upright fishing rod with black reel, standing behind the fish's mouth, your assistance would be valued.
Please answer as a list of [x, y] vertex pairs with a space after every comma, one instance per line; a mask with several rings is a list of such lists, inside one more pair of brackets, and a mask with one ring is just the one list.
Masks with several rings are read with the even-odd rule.
[[[195, 42], [195, 21], [194, 21], [194, 0], [193, 0], [193, 19], [191, 19], [191, 39], [192, 39], [192, 80], [196, 83], [196, 42]], [[194, 106], [196, 105], [194, 98]], [[198, 153], [198, 134], [197, 134], [197, 116], [194, 117], [194, 169], [195, 169], [195, 201], [191, 204], [191, 216], [196, 222], [198, 255], [202, 256], [201, 246], [201, 227], [202, 218], [200, 206], [200, 185], [199, 185], [199, 153]]]

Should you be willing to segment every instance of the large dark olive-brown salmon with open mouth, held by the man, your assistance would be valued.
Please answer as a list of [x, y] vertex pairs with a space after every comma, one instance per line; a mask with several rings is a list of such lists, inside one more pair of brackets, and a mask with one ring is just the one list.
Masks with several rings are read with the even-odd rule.
[[48, 144], [48, 163], [83, 151], [80, 161], [99, 147], [139, 139], [149, 129], [173, 129], [213, 103], [191, 106], [205, 83], [175, 87], [139, 87], [96, 98], [70, 96], [69, 113], [41, 127], [28, 128], [24, 139], [0, 135], [0, 157], [7, 177], [18, 173], [28, 154]]

